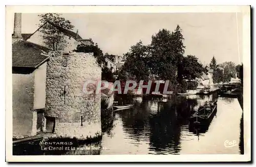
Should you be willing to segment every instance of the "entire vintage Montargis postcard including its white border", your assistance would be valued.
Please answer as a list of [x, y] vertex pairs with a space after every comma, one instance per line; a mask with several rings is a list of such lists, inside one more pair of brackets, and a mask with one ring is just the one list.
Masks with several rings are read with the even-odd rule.
[[6, 161], [251, 160], [250, 6], [6, 6], [6, 76]]

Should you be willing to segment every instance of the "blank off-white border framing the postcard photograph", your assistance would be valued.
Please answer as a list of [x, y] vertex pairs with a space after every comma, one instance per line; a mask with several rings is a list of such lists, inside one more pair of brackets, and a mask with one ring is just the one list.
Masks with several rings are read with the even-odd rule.
[[[12, 155], [12, 17], [17, 13], [243, 13], [244, 64], [244, 155]], [[6, 161], [9, 162], [194, 162], [194, 161], [250, 161], [251, 160], [251, 60], [250, 60], [250, 6], [6, 6]]]

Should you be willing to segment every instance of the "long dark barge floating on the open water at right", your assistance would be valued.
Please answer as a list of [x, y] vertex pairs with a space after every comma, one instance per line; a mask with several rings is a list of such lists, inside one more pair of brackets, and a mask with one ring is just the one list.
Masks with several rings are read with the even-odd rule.
[[193, 123], [194, 125], [203, 125], [208, 124], [211, 122], [212, 118], [217, 111], [217, 101], [216, 102], [205, 102], [204, 105], [201, 105], [197, 112], [194, 113], [189, 121], [190, 124]]

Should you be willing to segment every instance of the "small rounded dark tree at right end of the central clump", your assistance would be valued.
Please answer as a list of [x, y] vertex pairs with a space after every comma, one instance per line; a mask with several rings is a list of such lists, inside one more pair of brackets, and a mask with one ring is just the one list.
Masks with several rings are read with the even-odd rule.
[[195, 55], [183, 57], [182, 68], [180, 69], [180, 75], [183, 79], [191, 80], [200, 77], [203, 70], [203, 65], [198, 62], [198, 58]]

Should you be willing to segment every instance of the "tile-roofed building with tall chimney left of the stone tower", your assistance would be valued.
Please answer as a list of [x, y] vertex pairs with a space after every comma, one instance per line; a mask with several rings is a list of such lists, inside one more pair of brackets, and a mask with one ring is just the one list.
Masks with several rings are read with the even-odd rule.
[[46, 102], [48, 48], [24, 40], [21, 14], [15, 13], [12, 36], [12, 110], [13, 138], [36, 135], [42, 131]]

